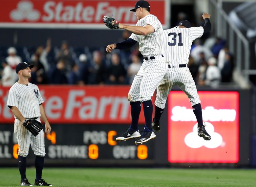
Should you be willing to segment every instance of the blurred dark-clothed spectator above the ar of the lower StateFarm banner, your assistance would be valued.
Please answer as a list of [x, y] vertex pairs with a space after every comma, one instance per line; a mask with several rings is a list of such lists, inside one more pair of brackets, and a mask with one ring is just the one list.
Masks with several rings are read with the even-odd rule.
[[93, 52], [93, 68], [90, 83], [91, 84], [105, 84], [107, 80], [107, 70], [102, 63], [102, 54], [99, 51]]

